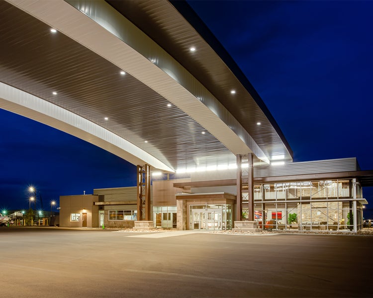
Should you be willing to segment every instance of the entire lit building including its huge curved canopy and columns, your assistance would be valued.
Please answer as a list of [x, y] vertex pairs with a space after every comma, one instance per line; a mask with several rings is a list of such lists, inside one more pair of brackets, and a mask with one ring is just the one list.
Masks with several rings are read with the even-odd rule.
[[61, 197], [61, 226], [361, 228], [373, 171], [353, 157], [293, 162], [187, 2], [6, 0], [0, 24], [0, 108], [137, 166], [135, 187]]

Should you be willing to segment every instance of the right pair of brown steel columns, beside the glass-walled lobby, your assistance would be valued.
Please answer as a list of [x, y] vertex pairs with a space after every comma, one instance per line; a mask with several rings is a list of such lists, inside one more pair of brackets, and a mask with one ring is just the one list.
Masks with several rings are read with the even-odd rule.
[[254, 156], [237, 154], [236, 221], [254, 221]]

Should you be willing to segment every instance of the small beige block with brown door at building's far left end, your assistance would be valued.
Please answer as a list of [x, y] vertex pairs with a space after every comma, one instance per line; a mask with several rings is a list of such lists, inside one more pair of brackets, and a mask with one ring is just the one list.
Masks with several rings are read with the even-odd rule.
[[[83, 213], [87, 214], [87, 227], [98, 227], [98, 206], [93, 205], [98, 202], [96, 195], [60, 196], [60, 226], [62, 227], [82, 227]], [[80, 221], [71, 221], [71, 214], [79, 213]]]

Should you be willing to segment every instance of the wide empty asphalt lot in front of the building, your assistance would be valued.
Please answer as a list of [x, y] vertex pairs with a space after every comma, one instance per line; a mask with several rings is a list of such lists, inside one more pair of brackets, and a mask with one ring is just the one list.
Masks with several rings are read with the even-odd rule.
[[0, 227], [1, 296], [373, 297], [372, 236], [163, 235]]

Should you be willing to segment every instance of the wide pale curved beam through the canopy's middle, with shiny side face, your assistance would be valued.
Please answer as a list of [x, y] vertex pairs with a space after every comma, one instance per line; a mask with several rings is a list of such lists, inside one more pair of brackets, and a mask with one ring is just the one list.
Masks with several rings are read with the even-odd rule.
[[[45, 5], [41, 7], [28, 5], [28, 2], [22, 5], [22, 0], [9, 1], [21, 4], [28, 13], [53, 24], [70, 38], [162, 94], [234, 154], [254, 152], [269, 162], [249, 133], [195, 77], [106, 2], [60, 0], [43, 2]], [[66, 19], [59, 19], [61, 12]], [[101, 42], [97, 43], [97, 39]]]

